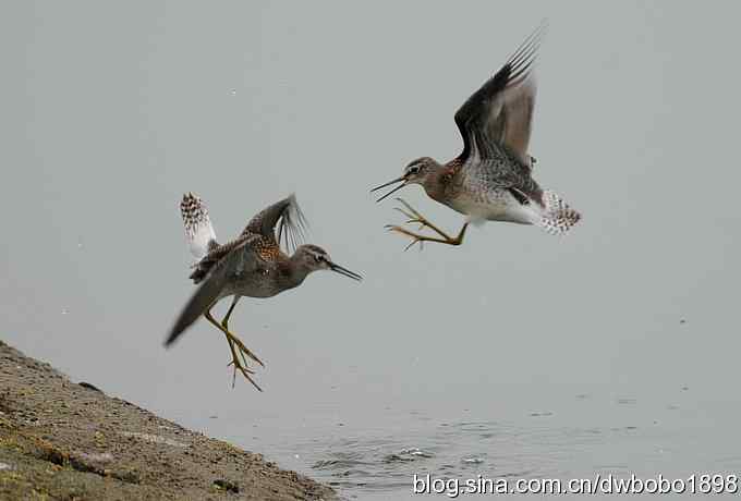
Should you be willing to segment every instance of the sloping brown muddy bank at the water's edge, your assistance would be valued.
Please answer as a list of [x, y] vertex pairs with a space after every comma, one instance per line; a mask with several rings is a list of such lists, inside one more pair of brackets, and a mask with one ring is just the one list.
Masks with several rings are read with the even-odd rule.
[[331, 488], [0, 341], [0, 499], [333, 500]]

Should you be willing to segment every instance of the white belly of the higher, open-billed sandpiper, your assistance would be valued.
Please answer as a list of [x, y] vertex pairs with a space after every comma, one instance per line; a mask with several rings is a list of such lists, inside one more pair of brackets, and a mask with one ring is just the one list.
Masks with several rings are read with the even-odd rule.
[[449, 204], [450, 208], [476, 221], [508, 221], [520, 224], [533, 224], [534, 213], [530, 205], [523, 206], [509, 192], [483, 195], [481, 197], [462, 196]]

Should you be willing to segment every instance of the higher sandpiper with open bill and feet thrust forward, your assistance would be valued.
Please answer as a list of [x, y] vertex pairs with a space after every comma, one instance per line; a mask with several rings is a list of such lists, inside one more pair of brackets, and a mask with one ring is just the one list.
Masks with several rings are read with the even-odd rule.
[[463, 137], [463, 150], [447, 163], [418, 158], [401, 176], [377, 190], [401, 183], [386, 195], [410, 184], [421, 185], [427, 196], [466, 216], [455, 236], [448, 235], [404, 200], [399, 208], [408, 223], [428, 228], [436, 236], [387, 225], [415, 243], [438, 242], [460, 245], [471, 222], [508, 221], [535, 224], [552, 234], [567, 233], [581, 215], [556, 193], [543, 190], [533, 179], [535, 159], [527, 151], [535, 107], [535, 62], [545, 24], [518, 48], [505, 65], [476, 90], [455, 112]]

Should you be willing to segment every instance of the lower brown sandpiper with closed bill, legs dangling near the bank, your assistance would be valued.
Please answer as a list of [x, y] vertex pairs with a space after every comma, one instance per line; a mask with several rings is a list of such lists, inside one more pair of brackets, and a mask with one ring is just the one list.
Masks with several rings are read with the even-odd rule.
[[[265, 365], [229, 330], [229, 317], [240, 298], [275, 296], [301, 285], [317, 270], [331, 270], [354, 280], [361, 280], [361, 276], [337, 265], [321, 247], [300, 245], [305, 220], [293, 195], [260, 211], [240, 236], [223, 245], [217, 243], [208, 209], [199, 197], [186, 193], [180, 210], [185, 240], [197, 259], [190, 278], [199, 286], [175, 320], [165, 345], [169, 346], [203, 315], [227, 337], [234, 377], [239, 370], [262, 391], [251, 377], [254, 371], [247, 367], [245, 355], [260, 366]], [[287, 252], [294, 249], [292, 255], [283, 252], [281, 242]], [[211, 308], [229, 296], [232, 296], [231, 306], [219, 322], [211, 315]]]

